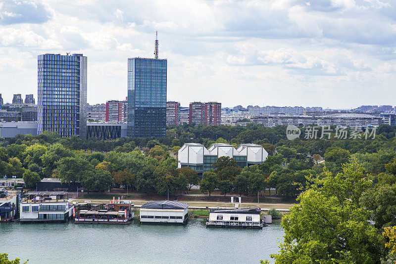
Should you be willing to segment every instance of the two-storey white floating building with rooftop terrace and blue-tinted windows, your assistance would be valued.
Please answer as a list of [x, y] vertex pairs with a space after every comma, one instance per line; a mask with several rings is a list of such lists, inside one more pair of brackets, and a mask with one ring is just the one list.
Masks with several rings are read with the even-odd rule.
[[73, 216], [67, 192], [27, 192], [20, 209], [21, 222], [65, 222]]

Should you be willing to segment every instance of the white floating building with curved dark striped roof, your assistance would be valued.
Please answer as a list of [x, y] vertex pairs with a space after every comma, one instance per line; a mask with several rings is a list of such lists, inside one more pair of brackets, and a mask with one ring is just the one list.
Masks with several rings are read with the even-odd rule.
[[189, 205], [173, 201], [148, 202], [140, 208], [142, 223], [186, 223]]

